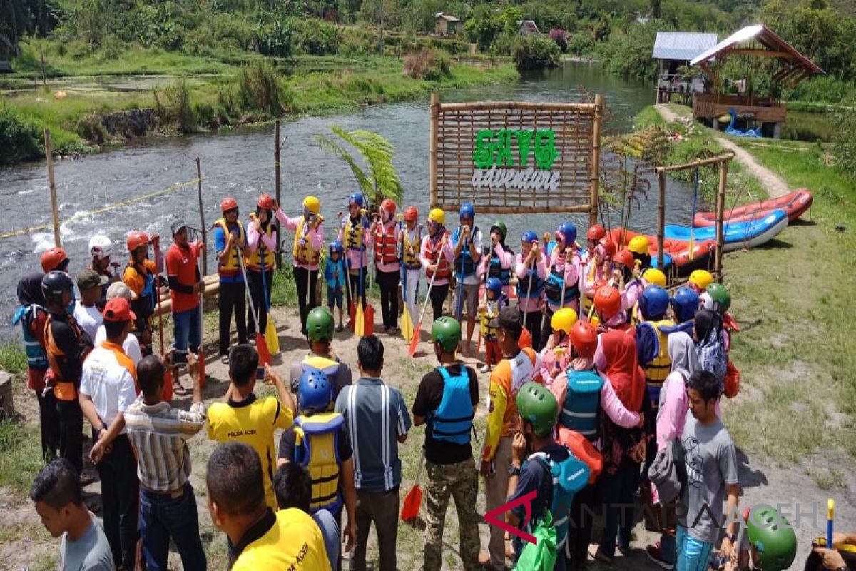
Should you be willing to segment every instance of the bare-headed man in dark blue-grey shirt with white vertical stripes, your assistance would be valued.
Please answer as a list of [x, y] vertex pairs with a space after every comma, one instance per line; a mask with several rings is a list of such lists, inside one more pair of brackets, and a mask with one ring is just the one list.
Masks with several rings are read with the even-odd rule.
[[401, 459], [397, 443], [407, 440], [410, 415], [401, 391], [383, 383], [383, 343], [365, 336], [357, 345], [360, 379], [342, 389], [334, 410], [345, 417], [354, 447], [357, 489], [357, 547], [352, 569], [365, 571], [372, 521], [377, 528], [379, 571], [395, 571], [395, 540], [401, 503]]

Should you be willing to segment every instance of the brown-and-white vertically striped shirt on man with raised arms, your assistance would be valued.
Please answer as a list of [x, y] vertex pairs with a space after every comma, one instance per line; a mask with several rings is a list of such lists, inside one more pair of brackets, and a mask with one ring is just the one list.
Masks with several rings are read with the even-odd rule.
[[167, 401], [147, 405], [140, 395], [125, 411], [125, 425], [137, 452], [140, 484], [157, 492], [181, 490], [192, 465], [187, 439], [205, 425], [205, 402], [194, 402], [188, 412]]

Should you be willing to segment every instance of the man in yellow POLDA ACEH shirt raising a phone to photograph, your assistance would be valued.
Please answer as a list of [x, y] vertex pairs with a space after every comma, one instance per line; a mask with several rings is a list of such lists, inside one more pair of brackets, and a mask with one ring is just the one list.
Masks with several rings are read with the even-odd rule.
[[[279, 400], [275, 396], [258, 399], [253, 394], [256, 378], [262, 376], [265, 384], [276, 388]], [[282, 379], [270, 366], [260, 369], [259, 354], [247, 343], [236, 345], [229, 353], [229, 378], [232, 384], [223, 396], [223, 402], [215, 402], [208, 409], [208, 438], [219, 443], [237, 441], [253, 447], [264, 468], [265, 501], [270, 509], [276, 509], [273, 433], [277, 428], [285, 430], [291, 426], [294, 401]]]

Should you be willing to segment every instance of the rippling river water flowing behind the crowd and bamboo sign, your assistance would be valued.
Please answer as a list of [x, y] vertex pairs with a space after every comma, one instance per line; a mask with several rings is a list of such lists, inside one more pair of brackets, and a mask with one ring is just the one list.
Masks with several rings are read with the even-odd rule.
[[[633, 116], [651, 104], [650, 86], [621, 80], [604, 74], [597, 64], [566, 63], [562, 68], [527, 75], [518, 82], [452, 90], [441, 94], [441, 101], [530, 100], [572, 101], [580, 98], [580, 86], [587, 92], [603, 93], [608, 107], [607, 131], [626, 132]], [[317, 195], [328, 241], [336, 231], [336, 212], [345, 210], [348, 193], [355, 189], [354, 177], [340, 159], [324, 155], [312, 145], [312, 134], [329, 133], [336, 123], [346, 129], [365, 128], [387, 137], [394, 145], [395, 166], [405, 189], [404, 204], [419, 208], [420, 218], [428, 210], [428, 129], [429, 110], [424, 100], [402, 104], [367, 107], [339, 116], [308, 117], [284, 122], [287, 137], [282, 147], [282, 202], [289, 215], [296, 215], [306, 194]], [[194, 159], [202, 159], [205, 221], [209, 225], [219, 215], [217, 205], [224, 195], [232, 195], [241, 206], [243, 217], [253, 210], [261, 192], [273, 193], [274, 128], [247, 128], [219, 134], [195, 135], [175, 139], [142, 140], [116, 151], [55, 164], [56, 192], [62, 220], [62, 245], [71, 258], [72, 274], [88, 263], [86, 247], [96, 233], [110, 235], [122, 244], [114, 261], [124, 264], [124, 236], [131, 229], [169, 235], [176, 218], [199, 226], [196, 185], [172, 193], [163, 193], [133, 205], [126, 205], [94, 217], [86, 217], [104, 205], [133, 199], [146, 193], [171, 187], [196, 176]], [[647, 203], [633, 212], [631, 227], [651, 231], [657, 217], [656, 182], [651, 181]], [[678, 181], [667, 188], [667, 222], [688, 223], [692, 211], [692, 190]], [[44, 162], [29, 163], [0, 172], [0, 204], [7, 216], [0, 217], [0, 234], [10, 230], [51, 223], [48, 175]], [[524, 219], [526, 218], [526, 219]], [[502, 217], [508, 223], [509, 245], [517, 246], [520, 232], [533, 229], [542, 234], [556, 228], [558, 214], [538, 217]], [[493, 217], [479, 216], [476, 224], [486, 232]], [[587, 218], [571, 217], [580, 232]], [[616, 225], [617, 215], [612, 224]], [[449, 226], [455, 215], [449, 213]], [[169, 238], [164, 239], [164, 247]], [[29, 271], [39, 269], [39, 252], [53, 245], [50, 230], [0, 240], [0, 337], [9, 336], [10, 316], [17, 305], [15, 284]], [[212, 264], [209, 262], [209, 272]]]

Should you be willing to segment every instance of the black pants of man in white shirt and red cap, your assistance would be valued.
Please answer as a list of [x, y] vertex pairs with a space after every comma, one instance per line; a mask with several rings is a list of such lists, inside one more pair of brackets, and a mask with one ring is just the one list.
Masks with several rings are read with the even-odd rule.
[[[95, 435], [92, 435], [95, 439]], [[98, 462], [101, 479], [101, 510], [104, 514], [104, 535], [110, 543], [113, 561], [122, 568], [134, 568], [137, 550], [137, 519], [140, 501], [140, 480], [137, 479], [137, 459], [127, 434], [113, 441], [113, 450]]]

